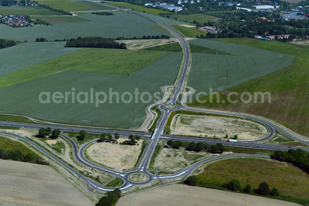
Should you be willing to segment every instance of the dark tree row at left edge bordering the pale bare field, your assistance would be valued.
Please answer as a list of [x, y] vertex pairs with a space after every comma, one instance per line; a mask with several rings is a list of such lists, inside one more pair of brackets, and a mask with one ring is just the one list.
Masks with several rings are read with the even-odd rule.
[[31, 162], [31, 163], [36, 163], [40, 165], [49, 165], [49, 163], [45, 162], [42, 157], [35, 157], [35, 155], [32, 152], [28, 152], [24, 154], [19, 149], [6, 150], [6, 149], [0, 148], [0, 159]]

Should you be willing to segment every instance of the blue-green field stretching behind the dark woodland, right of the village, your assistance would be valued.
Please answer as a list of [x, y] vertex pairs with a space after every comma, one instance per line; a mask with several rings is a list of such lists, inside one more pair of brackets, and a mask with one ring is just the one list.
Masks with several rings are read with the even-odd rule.
[[[154, 22], [141, 16], [125, 11], [113, 11], [115, 15], [78, 15], [78, 17], [90, 20], [87, 22], [53, 24], [53, 26], [12, 28], [0, 24], [1, 38], [15, 41], [35, 41], [37, 37], [48, 40], [77, 38], [78, 36], [102, 36], [110, 37], [142, 37], [152, 35], [169, 35], [167, 31], [151, 28]], [[71, 17], [64, 17], [71, 18]]]

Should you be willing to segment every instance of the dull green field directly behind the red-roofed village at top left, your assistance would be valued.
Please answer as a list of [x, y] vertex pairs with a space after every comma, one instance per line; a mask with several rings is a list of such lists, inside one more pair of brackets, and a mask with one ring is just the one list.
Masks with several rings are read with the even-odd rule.
[[0, 15], [63, 15], [38, 6], [0, 6]]

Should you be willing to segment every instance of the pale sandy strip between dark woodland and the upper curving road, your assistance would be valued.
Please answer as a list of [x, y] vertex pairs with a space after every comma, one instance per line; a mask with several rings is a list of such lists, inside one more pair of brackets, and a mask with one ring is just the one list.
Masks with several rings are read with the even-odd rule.
[[119, 40], [119, 43], [125, 43], [128, 49], [144, 49], [147, 47], [158, 46], [178, 42], [176, 38], [171, 39], [137, 39], [137, 40]]

